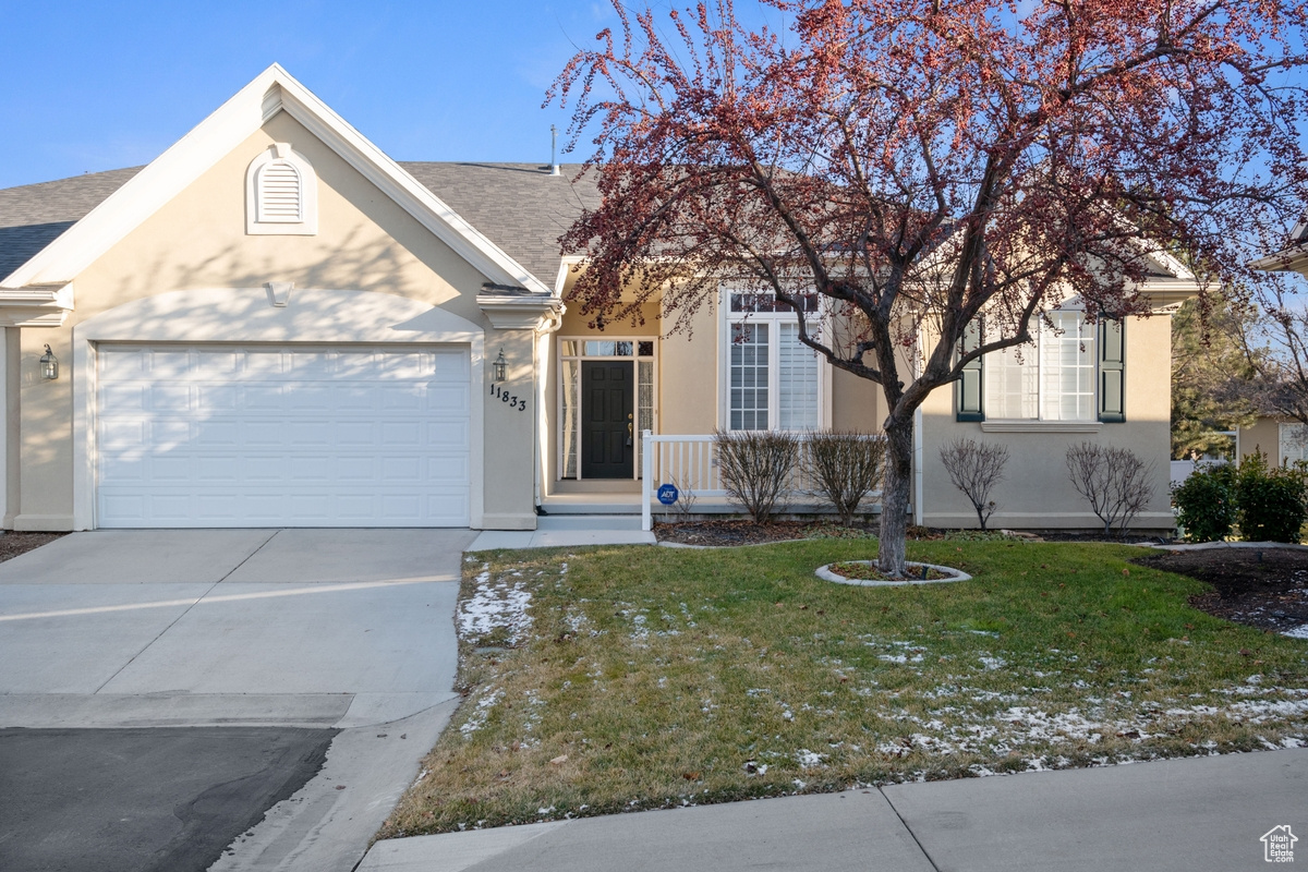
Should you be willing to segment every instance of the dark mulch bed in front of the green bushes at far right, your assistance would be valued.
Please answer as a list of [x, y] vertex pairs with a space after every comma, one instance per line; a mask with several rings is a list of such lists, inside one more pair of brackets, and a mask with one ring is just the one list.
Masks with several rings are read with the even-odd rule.
[[1277, 633], [1308, 624], [1308, 552], [1211, 548], [1135, 562], [1213, 584], [1190, 597], [1190, 605], [1209, 614]]

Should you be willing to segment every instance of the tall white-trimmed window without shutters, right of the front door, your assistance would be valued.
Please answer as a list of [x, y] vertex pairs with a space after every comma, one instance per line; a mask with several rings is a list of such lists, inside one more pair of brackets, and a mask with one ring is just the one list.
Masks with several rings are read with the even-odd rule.
[[[823, 373], [818, 353], [799, 341], [789, 306], [770, 293], [726, 295], [723, 367], [729, 430], [812, 430], [823, 425]], [[800, 297], [810, 329], [816, 293]]]

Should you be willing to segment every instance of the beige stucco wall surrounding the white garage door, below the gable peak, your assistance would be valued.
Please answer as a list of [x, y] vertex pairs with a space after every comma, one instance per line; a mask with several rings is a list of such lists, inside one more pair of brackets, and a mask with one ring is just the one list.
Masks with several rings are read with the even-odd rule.
[[[245, 233], [246, 167], [272, 143], [290, 143], [318, 175], [317, 235]], [[531, 331], [490, 328], [475, 299], [485, 277], [281, 112], [76, 276], [76, 309], [63, 327], [22, 329], [22, 463], [18, 502], [10, 506], [17, 512], [14, 526], [68, 529], [72, 524], [72, 374], [65, 369], [56, 382], [37, 377], [43, 344], [69, 362], [73, 327], [109, 309], [171, 290], [259, 288], [268, 281], [381, 292], [443, 307], [483, 326], [487, 353], [502, 346], [511, 362], [510, 382], [531, 391]], [[487, 526], [530, 528], [535, 526], [534, 430], [530, 421], [506, 416], [506, 409], [487, 404]]]

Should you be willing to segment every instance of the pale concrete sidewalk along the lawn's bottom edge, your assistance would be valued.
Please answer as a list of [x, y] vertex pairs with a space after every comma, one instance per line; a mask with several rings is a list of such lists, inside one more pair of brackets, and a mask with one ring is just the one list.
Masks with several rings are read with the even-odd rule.
[[392, 839], [358, 872], [1231, 872], [1266, 868], [1282, 825], [1308, 838], [1308, 749]]

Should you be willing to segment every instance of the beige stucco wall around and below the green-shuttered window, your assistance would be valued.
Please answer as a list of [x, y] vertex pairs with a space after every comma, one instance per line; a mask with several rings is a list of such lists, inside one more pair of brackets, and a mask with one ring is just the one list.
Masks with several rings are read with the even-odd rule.
[[1070, 444], [1095, 442], [1130, 448], [1154, 464], [1154, 499], [1137, 519], [1138, 528], [1172, 526], [1168, 458], [1171, 428], [1171, 316], [1126, 323], [1126, 422], [1099, 425], [1096, 433], [985, 431], [984, 424], [959, 422], [954, 386], [939, 388], [922, 405], [922, 523], [929, 527], [976, 527], [972, 505], [950, 484], [939, 460], [940, 446], [965, 437], [1008, 447], [1008, 464], [993, 498], [994, 528], [1093, 529], [1100, 526], [1088, 503], [1067, 478]]

